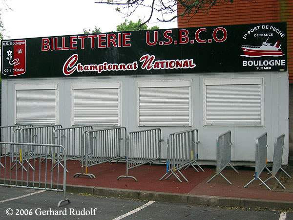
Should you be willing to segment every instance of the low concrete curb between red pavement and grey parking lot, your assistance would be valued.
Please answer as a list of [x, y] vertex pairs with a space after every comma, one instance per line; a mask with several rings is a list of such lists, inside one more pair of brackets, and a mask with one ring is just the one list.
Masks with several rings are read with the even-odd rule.
[[165, 202], [215, 205], [243, 208], [292, 209], [293, 201], [265, 200], [237, 197], [217, 197], [204, 195], [162, 193], [152, 191], [127, 190], [93, 186], [66, 185], [67, 192], [86, 193], [96, 196], [156, 200]]

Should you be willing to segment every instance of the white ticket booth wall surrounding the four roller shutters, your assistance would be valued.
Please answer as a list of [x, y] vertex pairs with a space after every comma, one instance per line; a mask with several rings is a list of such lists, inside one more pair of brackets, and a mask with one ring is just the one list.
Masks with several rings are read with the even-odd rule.
[[[40, 73], [41, 74], [41, 73]], [[204, 79], [205, 78], [251, 78], [262, 77], [264, 88], [264, 125], [263, 126], [204, 126]], [[285, 150], [283, 164], [288, 163], [289, 110], [288, 110], [288, 72], [251, 72], [251, 73], [214, 73], [214, 74], [169, 74], [139, 76], [93, 76], [63, 77], [40, 79], [2, 79], [2, 126], [15, 122], [15, 84], [57, 83], [58, 123], [63, 128], [71, 127], [71, 84], [87, 82], [121, 82], [121, 125], [127, 132], [150, 129], [137, 126], [137, 82], [150, 80], [192, 80], [192, 126], [161, 127], [162, 157], [167, 156], [167, 136], [171, 132], [197, 128], [199, 131], [199, 159], [205, 164], [214, 164], [216, 159], [216, 137], [228, 130], [232, 133], [231, 160], [241, 161], [238, 164], [249, 165], [255, 160], [255, 139], [268, 132], [268, 161], [272, 161], [274, 139], [285, 133]], [[105, 127], [105, 126], [104, 126]], [[100, 127], [102, 128], [102, 127]], [[206, 162], [205, 162], [206, 161]]]

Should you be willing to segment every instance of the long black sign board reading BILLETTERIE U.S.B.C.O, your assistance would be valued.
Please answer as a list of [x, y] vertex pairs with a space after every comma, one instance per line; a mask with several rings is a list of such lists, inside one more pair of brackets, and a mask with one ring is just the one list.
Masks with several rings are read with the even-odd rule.
[[2, 78], [287, 70], [286, 23], [3, 40]]

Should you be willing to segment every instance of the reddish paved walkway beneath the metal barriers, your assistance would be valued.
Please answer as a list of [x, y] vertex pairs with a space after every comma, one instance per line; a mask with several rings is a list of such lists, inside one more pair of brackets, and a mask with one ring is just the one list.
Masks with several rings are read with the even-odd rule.
[[[2, 163], [5, 162], [5, 158], [2, 157], [0, 160]], [[9, 161], [9, 160], [8, 160]], [[60, 169], [58, 178], [58, 169], [53, 170], [51, 174], [50, 166], [45, 168], [44, 162], [41, 163], [41, 167], [38, 161], [30, 161], [31, 164], [35, 164], [35, 178], [33, 178], [34, 172], [28, 169], [28, 173], [24, 172], [23, 180], [27, 178], [29, 181], [35, 179], [38, 182], [39, 178], [41, 182], [45, 180], [50, 183], [51, 175], [53, 182], [62, 184], [63, 172]], [[6, 173], [1, 172], [0, 169], [0, 179], [6, 177], [6, 180], [21, 179], [22, 172], [16, 174], [16, 169], [10, 170], [10, 164], [6, 164]], [[292, 168], [292, 169], [291, 169]], [[224, 178], [221, 176], [215, 177], [210, 183], [206, 181], [214, 175], [215, 167], [203, 166], [205, 172], [196, 172], [192, 167], [187, 170], [183, 170], [182, 173], [188, 178], [188, 182], [183, 181], [180, 183], [174, 176], [171, 176], [167, 180], [160, 181], [160, 177], [166, 173], [166, 165], [156, 165], [152, 166], [143, 165], [129, 171], [130, 176], [135, 176], [138, 182], [129, 178], [121, 178], [117, 180], [120, 175], [126, 174], [126, 164], [125, 163], [103, 163], [96, 166], [88, 168], [88, 172], [96, 176], [96, 178], [89, 179], [88, 177], [81, 176], [79, 178], [74, 178], [74, 174], [81, 172], [81, 164], [77, 160], [67, 161], [67, 173], [66, 183], [68, 185], [76, 186], [90, 186], [90, 187], [104, 187], [104, 188], [115, 188], [115, 189], [126, 189], [126, 190], [136, 190], [136, 191], [152, 191], [152, 192], [163, 192], [163, 193], [177, 193], [177, 194], [190, 194], [196, 196], [218, 196], [218, 197], [231, 197], [231, 198], [249, 198], [249, 199], [264, 199], [264, 200], [276, 200], [276, 201], [287, 201], [293, 202], [293, 178], [284, 179], [285, 177], [280, 176], [280, 180], [287, 187], [287, 191], [278, 188], [278, 191], [273, 190], [277, 186], [277, 182], [274, 179], [270, 179], [267, 184], [273, 189], [269, 191], [265, 186], [258, 186], [259, 180], [253, 181], [253, 183], [248, 188], [243, 188], [254, 175], [254, 168], [239, 167], [239, 174], [236, 174], [234, 170], [227, 167], [222, 174], [225, 175], [231, 182], [232, 185], [228, 184]], [[46, 170], [46, 172], [45, 172]], [[286, 168], [288, 173], [293, 176], [293, 166]], [[39, 176], [39, 172], [41, 175]], [[262, 172], [260, 177], [265, 180], [268, 178], [267, 172]], [[281, 172], [279, 172], [281, 174]], [[27, 175], [26, 175], [27, 174]], [[221, 190], [219, 190], [221, 189]]]

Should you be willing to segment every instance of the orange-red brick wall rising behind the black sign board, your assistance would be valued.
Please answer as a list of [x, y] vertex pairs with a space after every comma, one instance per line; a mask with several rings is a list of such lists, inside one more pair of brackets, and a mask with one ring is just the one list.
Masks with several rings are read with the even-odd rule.
[[[182, 11], [178, 6], [178, 14]], [[287, 22], [289, 82], [293, 83], [293, 0], [234, 0], [209, 12], [179, 17], [178, 28], [264, 22]]]

